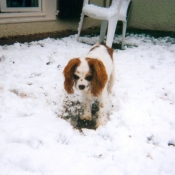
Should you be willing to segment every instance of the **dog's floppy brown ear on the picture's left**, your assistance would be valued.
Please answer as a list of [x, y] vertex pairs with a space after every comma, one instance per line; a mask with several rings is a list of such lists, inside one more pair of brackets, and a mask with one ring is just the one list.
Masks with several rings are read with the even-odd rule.
[[74, 92], [73, 85], [74, 85], [74, 72], [77, 66], [80, 65], [80, 59], [79, 58], [73, 58], [71, 59], [66, 67], [64, 68], [63, 74], [64, 74], [64, 89], [67, 91], [68, 94], [72, 94]]

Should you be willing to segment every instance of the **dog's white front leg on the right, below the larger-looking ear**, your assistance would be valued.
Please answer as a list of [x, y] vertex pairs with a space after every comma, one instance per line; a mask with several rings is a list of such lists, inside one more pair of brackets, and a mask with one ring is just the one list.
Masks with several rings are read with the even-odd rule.
[[99, 113], [98, 113], [98, 119], [96, 121], [96, 128], [106, 123], [108, 110], [109, 110], [109, 99], [108, 99], [107, 87], [105, 87], [101, 93], [101, 96], [99, 97]]

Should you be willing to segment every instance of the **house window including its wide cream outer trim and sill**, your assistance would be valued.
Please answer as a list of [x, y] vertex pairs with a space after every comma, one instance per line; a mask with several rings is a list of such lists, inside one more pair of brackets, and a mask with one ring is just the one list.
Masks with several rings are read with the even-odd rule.
[[57, 0], [0, 0], [0, 24], [56, 20], [56, 15]]

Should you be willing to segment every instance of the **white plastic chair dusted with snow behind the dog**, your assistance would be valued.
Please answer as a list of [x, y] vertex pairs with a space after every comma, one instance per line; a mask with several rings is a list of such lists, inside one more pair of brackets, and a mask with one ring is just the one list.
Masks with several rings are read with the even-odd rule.
[[84, 15], [87, 15], [91, 18], [101, 20], [99, 42], [102, 42], [104, 40], [108, 26], [106, 45], [109, 47], [111, 47], [113, 43], [117, 22], [122, 21], [123, 29], [121, 48], [124, 49], [124, 39], [127, 26], [127, 9], [129, 7], [130, 1], [131, 0], [112, 0], [111, 6], [106, 8], [94, 4], [89, 4], [89, 0], [84, 0], [81, 18], [78, 26], [77, 41], [79, 41]]

